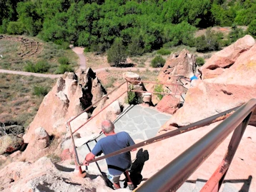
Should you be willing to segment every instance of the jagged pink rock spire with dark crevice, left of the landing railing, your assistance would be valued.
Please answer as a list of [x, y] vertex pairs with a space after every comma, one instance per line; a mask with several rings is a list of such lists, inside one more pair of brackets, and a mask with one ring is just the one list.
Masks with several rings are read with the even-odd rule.
[[[93, 85], [93, 82], [96, 83]], [[102, 92], [97, 88], [100, 88]], [[58, 79], [53, 89], [44, 97], [34, 121], [29, 125], [29, 130], [24, 135], [24, 142], [29, 143], [26, 151], [30, 151], [29, 148], [33, 148], [34, 143], [37, 141], [35, 134], [36, 128], [43, 127], [49, 136], [62, 136], [63, 133], [67, 132], [67, 120], [82, 113], [84, 108], [90, 106], [92, 99], [99, 97], [94, 96], [94, 94], [102, 95], [102, 93], [105, 94], [106, 92], [92, 69], [89, 68], [86, 71], [81, 70], [78, 76], [74, 73], [66, 72]], [[87, 119], [87, 113], [83, 113], [81, 117], [72, 122], [72, 127], [78, 128]], [[49, 142], [47, 141], [42, 144], [41, 148], [48, 145]], [[33, 156], [26, 151], [22, 155], [24, 158], [26, 158], [26, 155], [29, 156], [28, 159], [30, 161], [34, 161], [43, 155], [41, 152], [34, 151], [34, 157], [36, 158], [33, 160]]]

